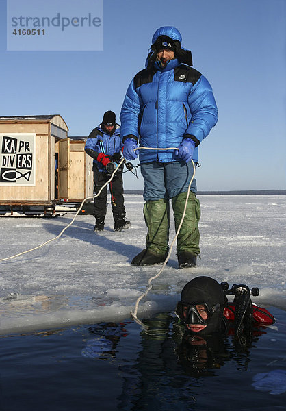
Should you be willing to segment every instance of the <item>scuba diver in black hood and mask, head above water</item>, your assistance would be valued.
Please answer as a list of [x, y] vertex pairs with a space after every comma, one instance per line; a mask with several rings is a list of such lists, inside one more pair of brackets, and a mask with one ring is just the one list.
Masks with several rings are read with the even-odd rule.
[[[229, 303], [227, 295], [234, 295]], [[175, 314], [187, 330], [196, 335], [220, 332], [226, 334], [229, 321], [234, 321], [235, 334], [246, 327], [270, 325], [275, 319], [268, 310], [252, 303], [250, 296], [259, 295], [257, 287], [250, 290], [245, 284], [219, 284], [211, 277], [196, 277], [185, 284]]]

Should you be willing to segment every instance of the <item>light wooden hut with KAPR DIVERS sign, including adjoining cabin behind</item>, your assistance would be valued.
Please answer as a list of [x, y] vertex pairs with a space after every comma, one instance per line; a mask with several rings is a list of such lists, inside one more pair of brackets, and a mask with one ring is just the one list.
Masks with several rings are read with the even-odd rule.
[[59, 114], [0, 117], [0, 205], [55, 206], [93, 192], [84, 140], [70, 142]]

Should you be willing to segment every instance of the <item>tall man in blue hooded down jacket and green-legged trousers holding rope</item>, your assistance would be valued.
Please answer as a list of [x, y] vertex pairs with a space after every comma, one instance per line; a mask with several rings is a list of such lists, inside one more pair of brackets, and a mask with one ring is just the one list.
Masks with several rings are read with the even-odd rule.
[[[207, 79], [192, 69], [192, 53], [181, 47], [175, 27], [155, 32], [146, 69], [133, 78], [120, 114], [123, 155], [140, 155], [144, 178], [144, 217], [148, 227], [146, 249], [133, 265], [164, 262], [168, 253], [169, 199], [176, 230], [181, 222], [187, 188], [193, 175], [191, 160], [198, 162], [198, 145], [216, 125], [218, 110]], [[146, 150], [153, 147], [173, 150]], [[192, 182], [183, 225], [177, 237], [180, 268], [196, 266], [200, 253], [200, 203]]]

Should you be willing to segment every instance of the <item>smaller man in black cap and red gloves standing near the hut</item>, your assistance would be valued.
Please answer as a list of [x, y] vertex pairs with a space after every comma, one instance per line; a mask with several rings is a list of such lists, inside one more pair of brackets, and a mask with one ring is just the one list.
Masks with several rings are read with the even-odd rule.
[[[108, 164], [110, 166], [112, 162], [120, 162], [121, 148], [120, 126], [116, 124], [115, 113], [109, 110], [103, 115], [102, 123], [92, 130], [84, 147], [86, 153], [94, 159], [95, 194], [99, 193], [99, 190], [101, 190], [111, 177], [114, 168], [112, 167], [112, 171], [108, 173]], [[122, 167], [116, 171], [114, 178], [109, 183], [109, 190], [111, 194], [112, 214], [114, 217], [114, 231], [122, 231], [122, 229], [130, 227], [130, 221], [125, 220]], [[104, 229], [106, 210], [107, 186], [103, 188], [98, 197], [94, 198], [95, 232]]]

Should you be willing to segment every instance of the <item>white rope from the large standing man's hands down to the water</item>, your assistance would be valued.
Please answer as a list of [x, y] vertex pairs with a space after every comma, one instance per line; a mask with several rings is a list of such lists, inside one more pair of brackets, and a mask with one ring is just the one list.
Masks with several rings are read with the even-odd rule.
[[[149, 150], [151, 149], [151, 150], [152, 150], [152, 148], [149, 148], [149, 147], [139, 147], [138, 149], [143, 149], [143, 148], [144, 148], [144, 149], [149, 149]], [[138, 149], [135, 149], [135, 150], [138, 150]], [[171, 150], [171, 149], [173, 149], [173, 150], [176, 149], [176, 150], [177, 150], [178, 148], [177, 148], [177, 147], [171, 147], [171, 148], [169, 148], [169, 150]], [[153, 149], [153, 150], [154, 150], [154, 149]], [[160, 150], [160, 149], [159, 149], [159, 150]], [[161, 149], [161, 150], [168, 150], [168, 149]], [[170, 258], [170, 255], [171, 255], [171, 253], [172, 253], [172, 247], [174, 246], [174, 242], [176, 241], [177, 236], [179, 235], [181, 226], [182, 226], [183, 221], [184, 221], [184, 219], [185, 219], [185, 212], [186, 212], [186, 210], [187, 210], [187, 200], [189, 199], [189, 196], [190, 196], [190, 188], [191, 188], [191, 185], [192, 185], [192, 182], [193, 182], [195, 173], [196, 173], [196, 167], [195, 167], [195, 165], [194, 165], [194, 161], [193, 161], [193, 160], [192, 160], [192, 165], [193, 165], [194, 172], [193, 172], [192, 178], [190, 179], [190, 184], [189, 184], [189, 186], [187, 187], [187, 197], [186, 197], [186, 199], [185, 199], [185, 207], [184, 207], [184, 210], [183, 210], [183, 216], [182, 216], [181, 222], [180, 222], [180, 224], [179, 224], [179, 227], [178, 227], [178, 229], [177, 229], [176, 235], [174, 236], [174, 239], [172, 240], [172, 243], [171, 243], [171, 245], [170, 245], [170, 250], [169, 250], [169, 252], [168, 252], [168, 256], [166, 257], [166, 260], [164, 261], [164, 264], [163, 264], [163, 266], [161, 267], [161, 269], [159, 270], [159, 272], [148, 280], [148, 288], [147, 288], [147, 290], [146, 290], [145, 292], [143, 292], [142, 295], [140, 295], [140, 297], [138, 297], [138, 299], [137, 299], [137, 301], [136, 301], [136, 303], [135, 303], [134, 311], [131, 311], [131, 316], [133, 316], [133, 319], [135, 320], [135, 322], [138, 323], [138, 324], [140, 324], [142, 327], [144, 327], [145, 330], [146, 330], [146, 328], [148, 328], [148, 327], [146, 327], [146, 325], [144, 325], [144, 324], [142, 323], [142, 321], [140, 321], [140, 319], [138, 319], [138, 316], [137, 316], [139, 303], [140, 303], [140, 301], [142, 300], [142, 298], [146, 297], [146, 295], [148, 294], [148, 292], [152, 289], [152, 284], [151, 284], [151, 283], [153, 282], [153, 279], [158, 278], [159, 275], [160, 275], [160, 274], [162, 273], [162, 271], [164, 270], [164, 268], [165, 268], [165, 266], [166, 266], [166, 264], [167, 264], [167, 262], [168, 262], [168, 260], [169, 260], [169, 258]]]

